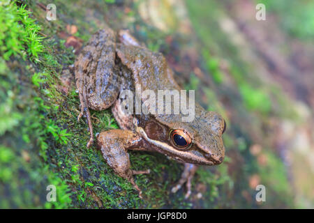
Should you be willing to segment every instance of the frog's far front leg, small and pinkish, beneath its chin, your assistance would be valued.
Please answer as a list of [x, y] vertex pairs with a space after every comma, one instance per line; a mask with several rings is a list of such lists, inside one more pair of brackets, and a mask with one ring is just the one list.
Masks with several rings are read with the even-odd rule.
[[181, 178], [179, 180], [179, 182], [177, 183], [177, 185], [175, 187], [172, 187], [171, 192], [175, 193], [177, 192], [184, 183], [186, 183], [186, 196], [185, 198], [187, 199], [188, 197], [190, 197], [191, 194], [191, 180], [195, 174], [195, 171], [197, 170], [197, 166], [195, 164], [190, 164], [190, 163], [186, 163], [184, 164], [184, 171], [181, 174]]

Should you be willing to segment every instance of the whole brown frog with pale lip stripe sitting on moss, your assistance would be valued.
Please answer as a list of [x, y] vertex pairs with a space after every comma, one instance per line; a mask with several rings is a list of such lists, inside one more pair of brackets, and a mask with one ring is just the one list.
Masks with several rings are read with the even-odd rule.
[[[77, 56], [74, 69], [80, 98], [77, 121], [82, 116], [86, 118], [90, 134], [87, 148], [96, 137], [96, 148], [105, 162], [115, 174], [133, 185], [140, 198], [142, 190], [133, 176], [149, 174], [150, 170], [131, 169], [128, 151], [158, 152], [183, 163], [184, 171], [171, 192], [177, 192], [186, 183], [186, 198], [191, 194], [191, 180], [198, 166], [223, 162], [222, 135], [226, 123], [217, 112], [207, 111], [197, 103], [193, 121], [182, 121], [181, 112], [126, 112], [131, 102], [122, 95], [123, 91], [136, 91], [139, 86], [143, 91], [149, 89], [155, 93], [160, 89], [181, 90], [165, 56], [149, 50], [129, 31], [113, 31], [109, 27], [97, 31]], [[140, 105], [144, 106], [144, 102], [145, 98], [140, 98]], [[111, 109], [120, 129], [94, 136], [90, 109]]]

